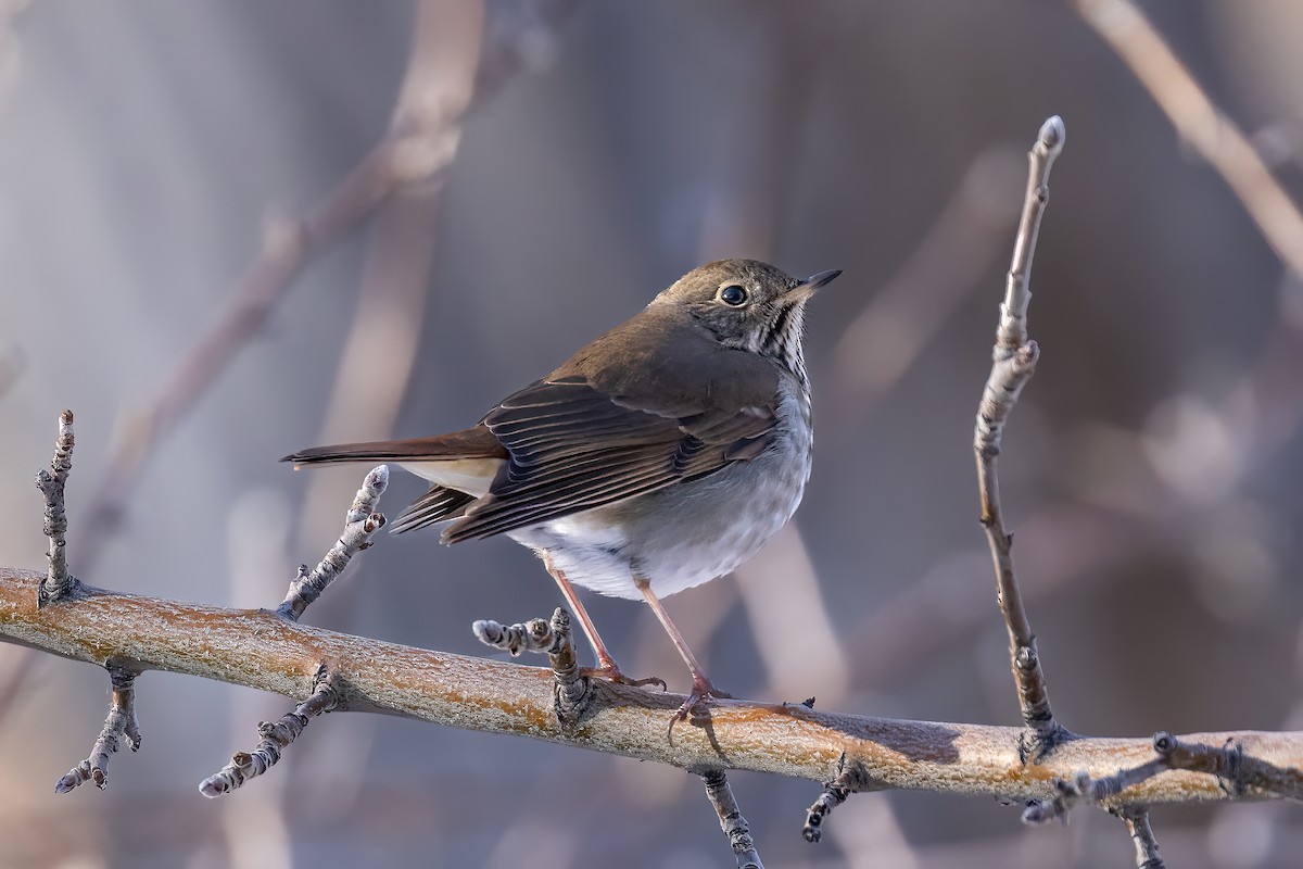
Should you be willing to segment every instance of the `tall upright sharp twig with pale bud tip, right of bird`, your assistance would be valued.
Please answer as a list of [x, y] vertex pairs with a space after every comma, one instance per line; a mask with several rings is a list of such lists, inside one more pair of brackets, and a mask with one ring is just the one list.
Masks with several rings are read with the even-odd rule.
[[1014, 257], [1009, 268], [1005, 301], [999, 307], [995, 328], [995, 347], [992, 352], [990, 377], [982, 391], [973, 431], [973, 451], [977, 457], [977, 489], [981, 496], [981, 524], [986, 529], [990, 555], [995, 567], [997, 597], [1005, 624], [1009, 628], [1010, 657], [1014, 681], [1018, 685], [1018, 704], [1027, 728], [1025, 753], [1031, 760], [1041, 757], [1063, 739], [1067, 731], [1054, 720], [1045, 689], [1045, 675], [1036, 651], [1036, 634], [1027, 620], [1023, 598], [1014, 576], [1010, 552], [1012, 535], [1005, 529], [999, 504], [997, 459], [1005, 422], [1018, 401], [1023, 386], [1036, 370], [1040, 354], [1036, 341], [1027, 337], [1027, 305], [1032, 257], [1041, 214], [1049, 198], [1050, 167], [1063, 147], [1063, 121], [1055, 115], [1041, 126], [1040, 135], [1028, 152], [1027, 197], [1023, 216], [1014, 240]]

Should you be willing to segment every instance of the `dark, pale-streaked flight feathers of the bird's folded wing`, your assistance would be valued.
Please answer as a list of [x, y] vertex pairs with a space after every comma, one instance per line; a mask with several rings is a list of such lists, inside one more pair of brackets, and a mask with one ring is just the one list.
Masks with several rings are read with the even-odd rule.
[[500, 534], [711, 474], [758, 455], [777, 420], [718, 393], [607, 395], [582, 377], [516, 392], [483, 423], [507, 448], [489, 494], [443, 534]]

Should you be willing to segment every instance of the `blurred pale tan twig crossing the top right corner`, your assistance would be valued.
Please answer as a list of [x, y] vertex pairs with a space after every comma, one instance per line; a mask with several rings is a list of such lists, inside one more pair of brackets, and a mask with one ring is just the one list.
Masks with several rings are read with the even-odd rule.
[[1130, 0], [1075, 0], [1076, 10], [1149, 91], [1181, 137], [1225, 178], [1276, 255], [1303, 276], [1303, 215], [1263, 156], [1213, 106]]

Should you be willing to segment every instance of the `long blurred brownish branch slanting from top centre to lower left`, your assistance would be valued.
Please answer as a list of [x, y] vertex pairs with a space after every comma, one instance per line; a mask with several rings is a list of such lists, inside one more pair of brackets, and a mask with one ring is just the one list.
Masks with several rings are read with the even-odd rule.
[[139, 481], [139, 466], [158, 442], [190, 410], [236, 353], [258, 332], [267, 315], [304, 267], [360, 225], [396, 190], [442, 180], [456, 151], [465, 117], [486, 103], [517, 73], [534, 69], [549, 55], [547, 30], [564, 18], [576, 0], [542, 0], [530, 13], [489, 26], [476, 93], [460, 112], [422, 104], [396, 112], [390, 129], [315, 211], [300, 220], [274, 221], [263, 248], [232, 291], [212, 327], [198, 336], [164, 384], [120, 426], [108, 468], [90, 498], [81, 535], [82, 567], [99, 556]]

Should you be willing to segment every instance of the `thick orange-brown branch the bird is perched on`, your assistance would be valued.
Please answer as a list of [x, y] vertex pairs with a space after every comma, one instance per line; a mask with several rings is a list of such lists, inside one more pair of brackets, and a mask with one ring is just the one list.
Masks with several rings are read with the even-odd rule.
[[[36, 607], [42, 575], [0, 568], [0, 640], [96, 664], [129, 661], [134, 671], [165, 670], [306, 700], [322, 663], [335, 677], [340, 709], [404, 715], [496, 734], [671, 763], [692, 771], [747, 769], [830, 780], [852, 773], [859, 790], [913, 788], [1053, 796], [1052, 780], [1078, 770], [1106, 776], [1153, 757], [1144, 739], [1075, 739], [1024, 765], [1022, 731], [982, 724], [861, 718], [804, 706], [719, 701], [705, 726], [680, 727], [671, 745], [665, 720], [683, 697], [593, 680], [573, 726], [554, 711], [551, 670], [427, 651], [323, 631], [265, 610], [228, 610], [79, 586]], [[1303, 766], [1303, 732], [1196, 734], [1186, 744], [1234, 740], [1246, 756], [1281, 769]], [[1260, 793], [1248, 791], [1243, 799]], [[1169, 771], [1110, 804], [1227, 800], [1212, 775]]]

